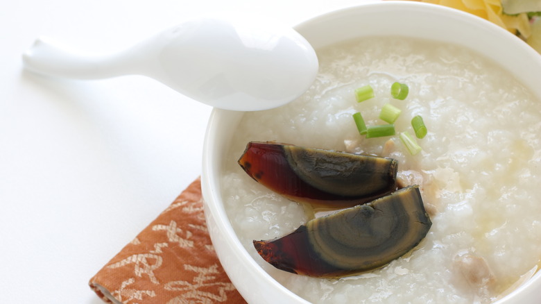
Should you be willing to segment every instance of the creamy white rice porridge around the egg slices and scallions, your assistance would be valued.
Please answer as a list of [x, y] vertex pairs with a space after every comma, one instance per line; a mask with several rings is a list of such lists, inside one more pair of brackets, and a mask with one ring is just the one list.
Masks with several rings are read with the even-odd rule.
[[[537, 271], [541, 257], [541, 105], [506, 71], [463, 47], [400, 37], [336, 44], [318, 51], [311, 89], [281, 108], [243, 116], [225, 155], [225, 210], [252, 257], [312, 303], [492, 303]], [[390, 86], [409, 85], [405, 100]], [[371, 85], [361, 103], [354, 90]], [[352, 114], [385, 124], [385, 103], [402, 110], [397, 135], [366, 139]], [[411, 155], [398, 133], [428, 134]], [[369, 153], [398, 161], [398, 178], [418, 184], [432, 227], [409, 254], [386, 267], [338, 279], [280, 271], [253, 239], [291, 233], [309, 220], [302, 205], [252, 180], [237, 164], [249, 141]]]

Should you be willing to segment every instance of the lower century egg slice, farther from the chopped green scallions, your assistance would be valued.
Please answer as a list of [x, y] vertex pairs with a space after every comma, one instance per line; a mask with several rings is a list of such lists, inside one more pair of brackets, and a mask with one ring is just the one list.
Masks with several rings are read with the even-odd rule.
[[418, 186], [411, 186], [253, 244], [277, 269], [334, 278], [388, 264], [417, 246], [431, 224]]

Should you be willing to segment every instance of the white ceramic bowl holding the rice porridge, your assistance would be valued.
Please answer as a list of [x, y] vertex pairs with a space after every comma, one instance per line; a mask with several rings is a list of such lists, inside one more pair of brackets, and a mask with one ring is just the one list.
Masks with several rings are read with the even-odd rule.
[[[295, 29], [317, 50], [356, 37], [401, 35], [470, 48], [499, 62], [531, 87], [541, 79], [541, 56], [519, 38], [473, 15], [418, 2], [367, 3], [314, 17]], [[538, 93], [539, 94], [539, 93]], [[223, 208], [220, 175], [222, 157], [242, 112], [214, 110], [203, 152], [203, 196], [209, 233], [225, 271], [250, 304], [308, 303], [269, 276], [239, 242]], [[538, 272], [497, 304], [539, 303]]]

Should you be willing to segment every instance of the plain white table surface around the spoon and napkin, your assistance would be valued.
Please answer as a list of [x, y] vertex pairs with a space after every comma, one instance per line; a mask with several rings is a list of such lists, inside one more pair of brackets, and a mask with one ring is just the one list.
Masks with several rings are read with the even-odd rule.
[[101, 303], [89, 278], [200, 174], [212, 110], [142, 76], [31, 74], [36, 37], [114, 51], [209, 11], [293, 26], [363, 1], [1, 1], [0, 302]]

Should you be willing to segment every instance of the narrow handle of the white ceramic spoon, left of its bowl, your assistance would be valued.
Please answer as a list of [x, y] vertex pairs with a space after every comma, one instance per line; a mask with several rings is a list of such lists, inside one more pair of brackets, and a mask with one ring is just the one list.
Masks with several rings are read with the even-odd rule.
[[139, 74], [132, 63], [132, 52], [109, 56], [82, 56], [47, 37], [35, 40], [23, 54], [26, 69], [38, 74], [74, 79], [101, 79]]

